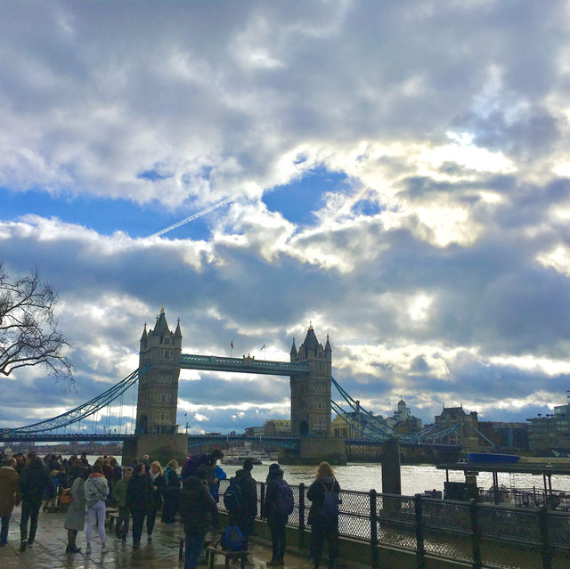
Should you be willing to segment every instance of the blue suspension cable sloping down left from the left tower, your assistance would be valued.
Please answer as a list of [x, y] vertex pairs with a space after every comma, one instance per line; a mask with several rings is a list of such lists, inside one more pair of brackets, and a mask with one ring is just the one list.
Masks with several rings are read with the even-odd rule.
[[149, 370], [150, 367], [150, 365], [147, 365], [142, 369], [134, 370], [133, 373], [119, 381], [118, 384], [110, 387], [107, 391], [97, 395], [88, 402], [82, 403], [75, 409], [61, 413], [61, 415], [58, 415], [57, 417], [45, 419], [31, 425], [26, 425], [25, 427], [8, 430], [12, 435], [45, 433], [46, 431], [52, 431], [53, 429], [67, 427], [73, 423], [82, 421], [91, 415], [95, 416], [99, 410], [102, 410], [103, 407], [109, 405], [110, 402], [115, 401], [118, 397], [124, 394], [129, 387], [134, 386], [138, 378], [140, 378], [145, 371]]

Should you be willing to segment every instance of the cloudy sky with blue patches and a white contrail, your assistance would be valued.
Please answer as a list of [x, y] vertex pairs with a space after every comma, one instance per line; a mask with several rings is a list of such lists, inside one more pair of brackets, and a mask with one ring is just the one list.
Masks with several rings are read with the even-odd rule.
[[[163, 304], [187, 354], [312, 322], [384, 415], [564, 404], [569, 38], [555, 1], [1, 1], [0, 258], [58, 289], [77, 392], [0, 379], [0, 424], [124, 378]], [[285, 418], [289, 380], [183, 371], [184, 414]]]

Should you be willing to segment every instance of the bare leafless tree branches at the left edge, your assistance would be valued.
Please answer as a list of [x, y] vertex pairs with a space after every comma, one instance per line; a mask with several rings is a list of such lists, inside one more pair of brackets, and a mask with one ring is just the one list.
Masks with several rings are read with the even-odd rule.
[[0, 261], [0, 373], [40, 366], [74, 385], [73, 366], [63, 355], [69, 343], [53, 313], [57, 294], [36, 271], [12, 280]]

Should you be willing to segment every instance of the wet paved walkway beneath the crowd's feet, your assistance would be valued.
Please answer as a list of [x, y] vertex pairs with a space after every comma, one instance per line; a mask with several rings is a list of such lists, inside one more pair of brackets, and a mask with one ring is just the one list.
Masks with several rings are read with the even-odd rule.
[[[114, 532], [107, 532], [109, 551], [102, 554], [99, 535], [94, 532], [92, 552], [85, 554], [85, 532], [77, 534], [77, 547], [81, 553], [66, 554], [67, 531], [63, 529], [64, 514], [40, 512], [37, 537], [33, 545], [20, 553], [20, 508], [15, 508], [10, 521], [8, 545], [0, 548], [2, 569], [181, 569], [184, 564], [178, 559], [180, 529], [158, 522], [153, 539], [147, 543], [142, 538], [141, 548], [133, 549], [130, 536], [125, 544], [115, 539]], [[143, 534], [144, 535], [144, 534]], [[271, 549], [260, 541], [250, 543], [250, 558], [255, 569], [264, 569], [271, 558]], [[216, 568], [223, 567], [222, 557], [216, 557]], [[233, 565], [239, 566], [239, 565]], [[313, 564], [306, 557], [287, 553], [287, 569], [311, 569]], [[338, 564], [338, 569], [347, 565]]]

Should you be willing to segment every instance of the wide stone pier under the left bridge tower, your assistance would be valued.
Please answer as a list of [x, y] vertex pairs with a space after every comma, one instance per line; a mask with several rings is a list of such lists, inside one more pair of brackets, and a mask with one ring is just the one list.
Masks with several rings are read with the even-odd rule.
[[162, 466], [170, 459], [184, 464], [188, 456], [188, 435], [137, 435], [123, 443], [123, 465], [132, 462], [134, 457], [142, 459], [145, 454], [159, 460]]

